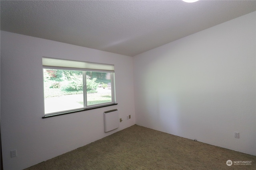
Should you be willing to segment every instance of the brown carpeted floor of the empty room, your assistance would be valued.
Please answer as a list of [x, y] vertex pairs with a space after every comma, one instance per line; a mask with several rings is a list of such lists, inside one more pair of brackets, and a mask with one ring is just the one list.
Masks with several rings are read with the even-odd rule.
[[[233, 164], [227, 166], [227, 160]], [[252, 161], [250, 165], [234, 161]], [[256, 170], [256, 156], [133, 125], [26, 170]]]

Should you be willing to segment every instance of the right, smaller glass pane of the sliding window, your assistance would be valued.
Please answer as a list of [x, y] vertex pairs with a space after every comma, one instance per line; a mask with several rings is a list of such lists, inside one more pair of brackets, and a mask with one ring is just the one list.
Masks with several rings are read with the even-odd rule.
[[87, 105], [112, 102], [110, 72], [86, 72]]

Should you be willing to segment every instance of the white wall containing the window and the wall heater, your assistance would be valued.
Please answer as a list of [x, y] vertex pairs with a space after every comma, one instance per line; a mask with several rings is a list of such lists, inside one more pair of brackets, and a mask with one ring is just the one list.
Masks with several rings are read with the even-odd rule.
[[[43, 56], [114, 64], [118, 105], [42, 119]], [[1, 31], [0, 68], [6, 170], [27, 168], [135, 124], [132, 57]], [[103, 112], [111, 109], [124, 121], [104, 133]], [[11, 158], [14, 149], [17, 156]]]

